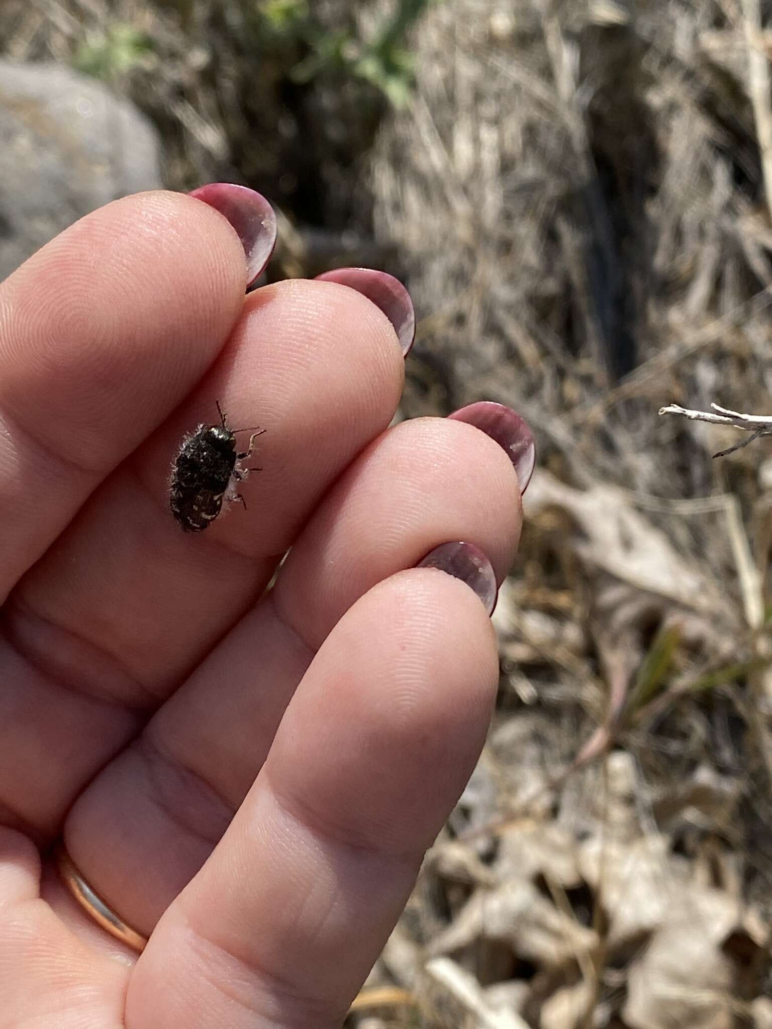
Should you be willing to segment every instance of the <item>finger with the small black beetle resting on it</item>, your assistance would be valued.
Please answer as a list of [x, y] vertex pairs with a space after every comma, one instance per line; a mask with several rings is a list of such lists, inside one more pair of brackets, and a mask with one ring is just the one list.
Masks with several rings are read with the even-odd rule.
[[[402, 376], [391, 325], [351, 289], [286, 282], [247, 298], [196, 394], [6, 604], [7, 704], [26, 717], [21, 737], [0, 717], [0, 782], [27, 824], [58, 831], [85, 782], [254, 603], [319, 496], [388, 425]], [[264, 470], [248, 510], [191, 535], [168, 507], [170, 455], [218, 397], [231, 424], [268, 429]]]

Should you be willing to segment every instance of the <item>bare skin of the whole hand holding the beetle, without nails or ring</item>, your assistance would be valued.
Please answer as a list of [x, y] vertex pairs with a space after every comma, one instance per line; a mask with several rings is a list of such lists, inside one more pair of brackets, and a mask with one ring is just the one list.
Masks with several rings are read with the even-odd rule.
[[[387, 428], [403, 360], [364, 296], [245, 281], [219, 214], [148, 193], [0, 285], [0, 1029], [340, 1026], [485, 738], [490, 620], [412, 566], [463, 539], [500, 581], [510, 460]], [[214, 398], [264, 470], [191, 537], [170, 461]]]

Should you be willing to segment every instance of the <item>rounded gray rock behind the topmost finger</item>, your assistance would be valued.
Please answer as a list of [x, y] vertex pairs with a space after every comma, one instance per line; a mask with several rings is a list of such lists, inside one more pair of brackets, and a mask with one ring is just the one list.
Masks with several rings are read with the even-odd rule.
[[150, 122], [59, 65], [0, 61], [0, 281], [77, 218], [162, 185]]

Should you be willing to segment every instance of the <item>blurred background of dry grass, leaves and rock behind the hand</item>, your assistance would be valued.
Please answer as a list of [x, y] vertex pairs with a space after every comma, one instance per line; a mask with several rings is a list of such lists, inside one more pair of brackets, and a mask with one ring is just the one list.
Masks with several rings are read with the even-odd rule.
[[[769, 28], [767, 28], [769, 25]], [[537, 438], [488, 744], [360, 1029], [772, 1026], [766, 0], [0, 0], [0, 279], [231, 180], [269, 279], [382, 268], [401, 417]]]

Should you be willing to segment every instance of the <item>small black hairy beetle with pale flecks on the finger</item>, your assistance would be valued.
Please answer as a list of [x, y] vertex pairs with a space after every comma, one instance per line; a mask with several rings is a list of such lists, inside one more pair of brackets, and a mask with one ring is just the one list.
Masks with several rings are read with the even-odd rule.
[[[257, 436], [265, 429], [230, 429], [219, 400], [215, 400], [220, 416], [219, 425], [200, 425], [195, 432], [184, 436], [172, 468], [169, 485], [169, 506], [172, 514], [185, 532], [203, 532], [222, 510], [222, 501], [246, 501], [237, 491], [250, 471], [260, 468], [241, 468], [239, 462], [248, 458]], [[236, 433], [251, 432], [249, 447], [242, 453], [236, 450]]]

